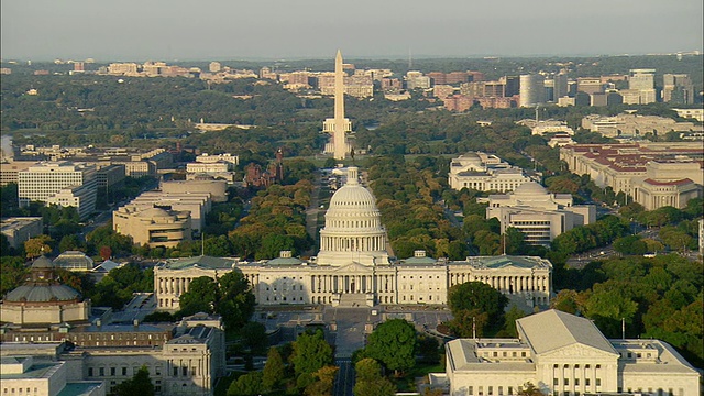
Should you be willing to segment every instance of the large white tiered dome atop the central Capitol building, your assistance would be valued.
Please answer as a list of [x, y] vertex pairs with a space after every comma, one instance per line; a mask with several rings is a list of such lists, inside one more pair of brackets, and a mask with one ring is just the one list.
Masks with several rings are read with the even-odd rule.
[[381, 219], [374, 195], [360, 184], [359, 169], [349, 167], [346, 183], [332, 196], [326, 212], [318, 263], [387, 263], [386, 230]]

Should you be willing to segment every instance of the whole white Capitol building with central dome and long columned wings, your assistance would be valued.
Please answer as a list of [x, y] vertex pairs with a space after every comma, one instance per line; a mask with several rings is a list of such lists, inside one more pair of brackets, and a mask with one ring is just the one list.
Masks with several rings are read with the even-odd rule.
[[372, 307], [376, 305], [444, 305], [448, 289], [479, 280], [515, 304], [547, 306], [552, 265], [532, 256], [473, 256], [449, 261], [426, 256], [394, 260], [387, 250], [376, 199], [350, 167], [345, 185], [332, 196], [320, 230], [320, 251], [302, 261], [282, 252], [277, 258], [242, 262], [198, 256], [168, 260], [154, 268], [157, 309], [175, 311], [193, 279], [241, 272], [260, 305]]

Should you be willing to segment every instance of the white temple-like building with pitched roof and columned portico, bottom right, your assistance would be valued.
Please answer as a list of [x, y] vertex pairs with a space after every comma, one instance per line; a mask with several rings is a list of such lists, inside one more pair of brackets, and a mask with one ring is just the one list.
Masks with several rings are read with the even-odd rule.
[[446, 373], [430, 383], [451, 396], [700, 395], [700, 374], [659, 340], [609, 340], [588, 319], [547, 310], [516, 320], [518, 339], [446, 344]]

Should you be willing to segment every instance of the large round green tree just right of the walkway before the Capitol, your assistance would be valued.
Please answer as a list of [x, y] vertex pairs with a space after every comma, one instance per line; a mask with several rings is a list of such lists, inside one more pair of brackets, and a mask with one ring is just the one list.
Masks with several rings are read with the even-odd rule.
[[416, 328], [404, 319], [383, 322], [369, 337], [366, 354], [393, 370], [396, 376], [416, 365]]

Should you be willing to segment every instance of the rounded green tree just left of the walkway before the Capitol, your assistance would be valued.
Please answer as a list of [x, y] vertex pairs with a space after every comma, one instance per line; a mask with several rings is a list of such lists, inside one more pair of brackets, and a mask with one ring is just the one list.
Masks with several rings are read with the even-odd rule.
[[301, 374], [312, 374], [333, 362], [332, 346], [326, 341], [322, 330], [300, 334], [293, 346], [290, 362], [296, 377]]

